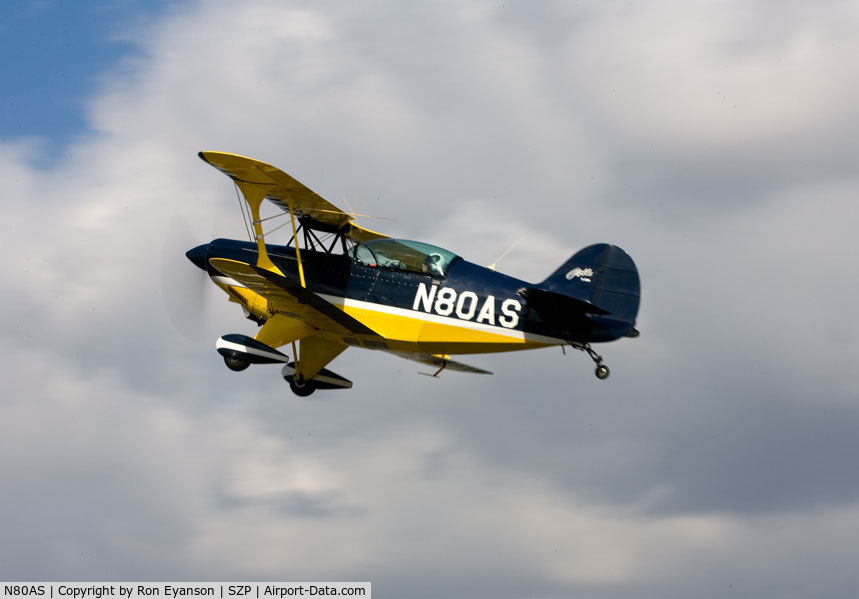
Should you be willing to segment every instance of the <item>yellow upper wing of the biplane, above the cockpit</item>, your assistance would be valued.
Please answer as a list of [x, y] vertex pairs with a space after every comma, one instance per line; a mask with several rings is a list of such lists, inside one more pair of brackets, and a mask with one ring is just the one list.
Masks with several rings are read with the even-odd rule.
[[309, 217], [337, 229], [345, 229], [346, 236], [358, 243], [387, 237], [359, 227], [352, 222], [351, 214], [343, 212], [277, 167], [227, 152], [200, 152], [199, 156], [233, 181], [273, 185], [266, 198], [281, 210], [288, 212], [291, 201], [296, 215]]

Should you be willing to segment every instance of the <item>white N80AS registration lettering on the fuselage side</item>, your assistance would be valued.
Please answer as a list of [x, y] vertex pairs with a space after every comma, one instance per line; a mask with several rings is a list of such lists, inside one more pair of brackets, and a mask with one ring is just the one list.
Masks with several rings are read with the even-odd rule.
[[435, 313], [439, 316], [456, 315], [461, 320], [473, 320], [492, 326], [498, 324], [512, 329], [519, 324], [522, 304], [518, 300], [508, 298], [501, 301], [496, 311], [494, 295], [487, 295], [481, 304], [480, 298], [473, 291], [457, 293], [451, 287], [439, 289], [438, 285], [427, 287], [426, 283], [421, 283], [415, 292], [412, 310]]

